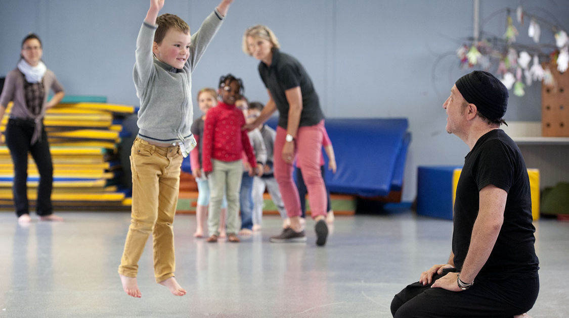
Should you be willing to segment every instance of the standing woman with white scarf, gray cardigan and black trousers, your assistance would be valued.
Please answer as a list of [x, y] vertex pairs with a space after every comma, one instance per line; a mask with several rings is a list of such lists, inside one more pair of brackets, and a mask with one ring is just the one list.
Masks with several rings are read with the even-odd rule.
[[[46, 110], [59, 103], [65, 93], [53, 72], [43, 64], [42, 54], [42, 41], [39, 37], [35, 34], [26, 36], [22, 41], [17, 68], [6, 76], [0, 95], [0, 120], [8, 103], [14, 102], [5, 136], [14, 163], [14, 205], [20, 223], [31, 221], [27, 196], [28, 152], [34, 158], [40, 175], [36, 200], [36, 211], [40, 219], [63, 220], [53, 214], [51, 204], [53, 164], [43, 118]], [[50, 89], [55, 95], [48, 102]]]

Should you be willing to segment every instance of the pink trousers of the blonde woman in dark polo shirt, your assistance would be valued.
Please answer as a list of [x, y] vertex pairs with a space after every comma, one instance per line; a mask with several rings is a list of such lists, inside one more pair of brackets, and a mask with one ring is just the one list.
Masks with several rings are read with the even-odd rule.
[[[294, 157], [298, 159], [302, 176], [308, 189], [308, 199], [310, 199], [313, 219], [319, 215], [326, 215], [326, 187], [320, 173], [323, 126], [324, 120], [313, 126], [299, 127], [294, 141]], [[300, 197], [292, 179], [294, 166], [287, 164], [282, 158], [282, 150], [286, 142], [284, 140], [285, 137], [286, 129], [277, 127], [274, 149], [274, 173], [288, 217], [300, 216], [302, 214]]]

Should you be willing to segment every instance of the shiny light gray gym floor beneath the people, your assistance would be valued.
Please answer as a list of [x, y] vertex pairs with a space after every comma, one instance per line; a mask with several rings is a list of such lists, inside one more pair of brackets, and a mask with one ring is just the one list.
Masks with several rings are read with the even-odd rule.
[[[390, 317], [393, 295], [450, 253], [452, 223], [411, 212], [337, 217], [325, 248], [271, 244], [277, 216], [240, 244], [193, 239], [177, 215], [175, 297], [154, 282], [151, 245], [139, 263], [142, 299], [127, 296], [117, 266], [130, 215], [61, 212], [64, 223], [17, 224], [0, 212], [0, 317]], [[569, 316], [569, 222], [542, 219], [541, 291], [530, 315]]]

